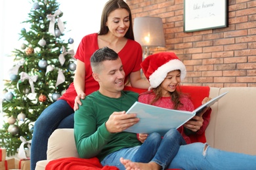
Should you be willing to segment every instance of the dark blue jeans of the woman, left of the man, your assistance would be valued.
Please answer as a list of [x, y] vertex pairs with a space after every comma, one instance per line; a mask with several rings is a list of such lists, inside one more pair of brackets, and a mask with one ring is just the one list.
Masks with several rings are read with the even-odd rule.
[[31, 170], [35, 169], [37, 161], [46, 160], [48, 139], [58, 128], [74, 128], [74, 110], [64, 100], [49, 105], [35, 121], [30, 155]]

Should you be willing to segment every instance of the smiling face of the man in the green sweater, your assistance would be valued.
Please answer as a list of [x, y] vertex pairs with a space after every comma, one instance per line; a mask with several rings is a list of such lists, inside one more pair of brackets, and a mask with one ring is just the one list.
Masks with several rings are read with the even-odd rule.
[[93, 73], [93, 77], [100, 84], [99, 92], [108, 97], [120, 97], [124, 88], [125, 72], [121, 59], [102, 62], [100, 73]]

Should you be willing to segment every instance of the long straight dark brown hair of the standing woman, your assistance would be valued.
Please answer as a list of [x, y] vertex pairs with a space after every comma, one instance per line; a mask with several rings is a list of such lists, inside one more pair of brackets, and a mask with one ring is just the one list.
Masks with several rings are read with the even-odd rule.
[[128, 29], [127, 33], [125, 33], [125, 38], [134, 40], [133, 19], [131, 17], [131, 9], [127, 5], [127, 3], [125, 3], [125, 1], [123, 1], [123, 0], [110, 0], [106, 3], [106, 5], [102, 11], [102, 14], [101, 14], [100, 31], [99, 31], [98, 35], [105, 35], [106, 33], [108, 33], [109, 29], [106, 26], [106, 22], [108, 21], [108, 16], [110, 15], [110, 13], [113, 10], [116, 10], [116, 9], [126, 9], [127, 12], [129, 12], [130, 25], [129, 25], [129, 29]]

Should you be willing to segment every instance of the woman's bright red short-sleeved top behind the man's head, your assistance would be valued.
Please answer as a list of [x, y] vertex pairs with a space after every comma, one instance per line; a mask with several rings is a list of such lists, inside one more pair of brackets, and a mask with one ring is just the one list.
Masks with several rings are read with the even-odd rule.
[[[98, 82], [96, 82], [92, 76], [93, 71], [91, 69], [90, 58], [93, 53], [98, 50], [98, 33], [86, 35], [81, 40], [75, 58], [85, 63], [85, 94], [89, 95], [99, 89]], [[125, 81], [132, 72], [140, 70], [140, 63], [142, 62], [142, 48], [140, 44], [131, 39], [127, 39], [127, 42], [123, 49], [117, 53], [123, 63], [123, 70], [125, 71]], [[70, 107], [74, 107], [74, 99], [77, 96], [75, 92], [74, 83], [70, 84], [66, 92], [59, 98], [68, 102]]]

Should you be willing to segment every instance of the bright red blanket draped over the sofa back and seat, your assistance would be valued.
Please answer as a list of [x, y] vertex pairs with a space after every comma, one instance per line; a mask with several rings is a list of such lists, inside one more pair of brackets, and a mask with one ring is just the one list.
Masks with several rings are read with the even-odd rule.
[[[133, 92], [142, 93], [146, 90], [144, 89], [135, 89], [131, 87], [125, 87], [125, 90], [131, 90]], [[202, 100], [204, 97], [209, 96], [209, 87], [208, 86], [181, 86], [181, 91], [183, 93], [188, 93], [190, 95], [190, 99], [194, 104], [194, 107], [197, 108], [202, 105]], [[210, 116], [211, 110], [209, 112], [205, 112], [207, 116]], [[192, 142], [202, 142], [205, 143], [205, 134], [202, 135], [190, 135], [190, 139]], [[114, 166], [104, 166], [100, 164], [98, 158], [91, 159], [82, 159], [82, 158], [60, 158], [58, 160], [50, 161], [45, 170], [117, 170], [117, 167]]]

